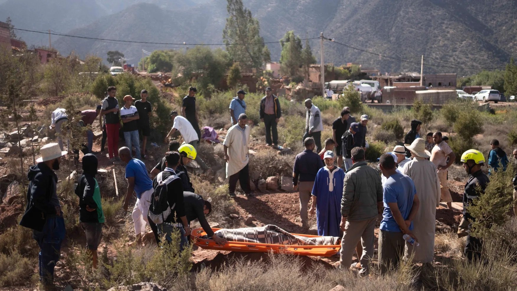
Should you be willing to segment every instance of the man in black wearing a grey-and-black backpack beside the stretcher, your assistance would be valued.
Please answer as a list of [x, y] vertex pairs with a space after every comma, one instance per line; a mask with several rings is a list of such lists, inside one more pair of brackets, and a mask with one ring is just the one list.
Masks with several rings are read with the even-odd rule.
[[[183, 185], [181, 179], [176, 176], [176, 167], [179, 164], [179, 153], [177, 151], [169, 151], [165, 155], [167, 167], [165, 171], [161, 172], [153, 180], [153, 188], [156, 189], [159, 181], [165, 181], [170, 176], [173, 176], [173, 180], [167, 185], [167, 201], [172, 209], [171, 214], [163, 221], [163, 223], [157, 224], [158, 235], [165, 236], [168, 242], [172, 241], [171, 233], [178, 231], [180, 233], [180, 244], [179, 248], [183, 251], [185, 244], [188, 244], [187, 237], [190, 235], [190, 227], [185, 216], [185, 203], [183, 200]], [[161, 179], [160, 179], [161, 178]], [[180, 221], [180, 222], [177, 222]]]

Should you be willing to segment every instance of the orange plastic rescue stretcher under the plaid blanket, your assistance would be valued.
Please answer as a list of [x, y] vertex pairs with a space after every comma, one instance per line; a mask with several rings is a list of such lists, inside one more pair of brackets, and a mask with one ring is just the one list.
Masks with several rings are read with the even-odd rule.
[[[221, 228], [212, 228], [212, 231], [216, 232], [219, 229]], [[337, 254], [341, 249], [340, 244], [326, 246], [291, 246], [287, 244], [253, 243], [240, 241], [228, 241], [226, 244], [224, 244], [224, 246], [221, 246], [212, 239], [201, 238], [202, 236], [206, 235], [205, 231], [203, 231], [203, 228], [192, 229], [190, 235], [193, 243], [196, 246], [206, 250], [221, 250], [249, 253], [267, 253], [269, 251], [272, 251], [273, 253], [287, 253], [300, 256], [329, 257], [334, 254]], [[316, 235], [294, 235], [303, 237], [317, 237]]]

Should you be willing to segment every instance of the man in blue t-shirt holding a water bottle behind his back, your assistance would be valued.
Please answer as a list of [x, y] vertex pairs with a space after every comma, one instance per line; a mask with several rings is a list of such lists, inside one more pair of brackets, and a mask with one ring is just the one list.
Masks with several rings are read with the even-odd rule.
[[411, 231], [420, 202], [413, 180], [396, 171], [391, 154], [381, 156], [379, 167], [387, 178], [383, 186], [384, 212], [378, 241], [378, 261], [381, 274], [384, 274], [390, 268], [396, 268], [404, 255], [402, 236], [407, 234], [417, 240]]

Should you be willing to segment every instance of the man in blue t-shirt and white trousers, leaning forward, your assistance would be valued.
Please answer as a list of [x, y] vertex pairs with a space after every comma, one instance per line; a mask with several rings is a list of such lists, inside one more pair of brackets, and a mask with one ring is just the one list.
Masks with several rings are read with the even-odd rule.
[[154, 191], [153, 180], [149, 178], [145, 164], [141, 160], [131, 157], [131, 150], [128, 147], [119, 148], [118, 156], [126, 164], [126, 179], [128, 180], [128, 190], [124, 198], [124, 210], [128, 210], [129, 198], [133, 191], [136, 193], [136, 203], [131, 213], [136, 239], [131, 244], [141, 245], [142, 235], [145, 233], [145, 223], [149, 223], [147, 212], [149, 211], [149, 202]]

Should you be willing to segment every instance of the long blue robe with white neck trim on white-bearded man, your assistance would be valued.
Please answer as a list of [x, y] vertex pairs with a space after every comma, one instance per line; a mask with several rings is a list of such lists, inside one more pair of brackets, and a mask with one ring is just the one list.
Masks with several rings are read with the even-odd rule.
[[316, 196], [316, 225], [319, 236], [339, 237], [344, 178], [345, 172], [337, 166], [332, 171], [324, 166], [316, 174], [312, 195]]

